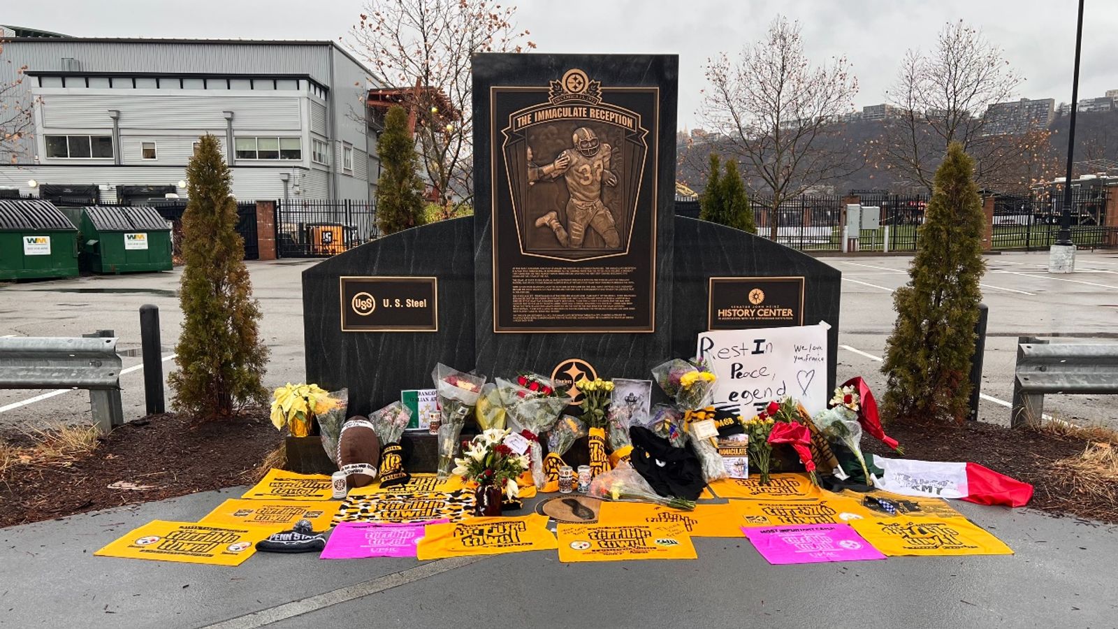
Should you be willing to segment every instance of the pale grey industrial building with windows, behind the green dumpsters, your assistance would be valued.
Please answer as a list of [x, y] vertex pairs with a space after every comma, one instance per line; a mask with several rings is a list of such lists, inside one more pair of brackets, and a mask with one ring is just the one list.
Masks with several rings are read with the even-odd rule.
[[34, 113], [30, 135], [0, 153], [0, 188], [184, 195], [193, 145], [212, 133], [238, 199], [372, 197], [376, 85], [332, 41], [17, 36], [0, 60], [0, 84], [21, 79], [3, 105]]

